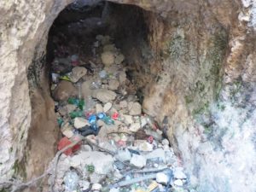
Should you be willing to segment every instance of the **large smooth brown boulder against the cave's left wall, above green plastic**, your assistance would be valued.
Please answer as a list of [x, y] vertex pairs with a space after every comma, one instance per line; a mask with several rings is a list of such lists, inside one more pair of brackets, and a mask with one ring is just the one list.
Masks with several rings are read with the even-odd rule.
[[78, 90], [68, 81], [61, 81], [54, 91], [56, 101], [66, 101], [71, 96], [77, 96]]

